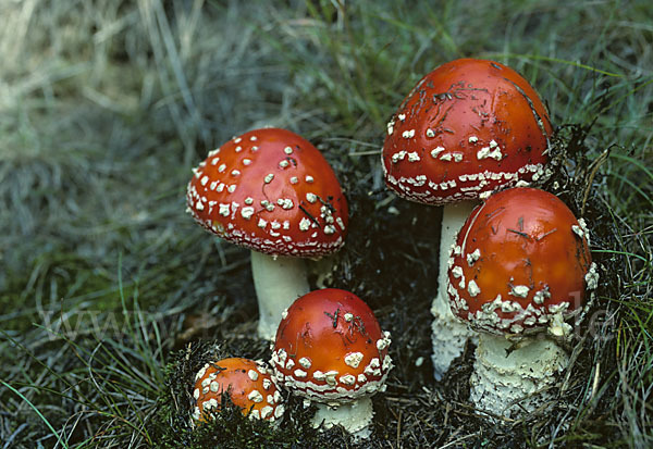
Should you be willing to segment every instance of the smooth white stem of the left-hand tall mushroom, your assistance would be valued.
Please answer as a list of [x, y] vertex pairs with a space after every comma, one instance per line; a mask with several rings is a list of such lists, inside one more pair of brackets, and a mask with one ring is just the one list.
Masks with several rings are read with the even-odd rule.
[[310, 290], [306, 262], [299, 258], [251, 251], [251, 275], [260, 315], [258, 335], [273, 340], [283, 311]]

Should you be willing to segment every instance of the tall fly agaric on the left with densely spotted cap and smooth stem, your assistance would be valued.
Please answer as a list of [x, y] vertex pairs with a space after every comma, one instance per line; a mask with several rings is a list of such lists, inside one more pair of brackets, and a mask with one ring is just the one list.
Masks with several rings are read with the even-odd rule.
[[188, 211], [206, 229], [251, 250], [258, 334], [272, 339], [281, 312], [309, 291], [299, 258], [319, 259], [344, 244], [347, 201], [335, 174], [308, 140], [279, 128], [227, 141], [193, 172]]

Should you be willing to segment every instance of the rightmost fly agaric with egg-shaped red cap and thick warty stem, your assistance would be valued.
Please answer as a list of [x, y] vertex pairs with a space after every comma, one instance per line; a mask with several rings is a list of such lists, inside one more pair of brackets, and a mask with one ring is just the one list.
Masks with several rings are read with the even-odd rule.
[[447, 291], [452, 311], [481, 332], [470, 381], [479, 409], [509, 417], [551, 399], [542, 390], [568, 357], [537, 333], [570, 336], [565, 320], [597, 283], [589, 240], [582, 219], [534, 188], [494, 194], [465, 222], [452, 248]]

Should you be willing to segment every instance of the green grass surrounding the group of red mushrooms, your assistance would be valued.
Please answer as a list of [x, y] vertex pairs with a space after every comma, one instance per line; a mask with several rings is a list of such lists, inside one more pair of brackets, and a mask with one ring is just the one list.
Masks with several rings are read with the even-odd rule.
[[[379, 445], [653, 445], [648, 0], [5, 0], [0, 17], [0, 447], [174, 447], [159, 420], [175, 391], [171, 351], [201, 338], [264, 354], [246, 336], [246, 251], [184, 213], [189, 169], [263, 125], [319, 145], [353, 203], [334, 282], [397, 329]], [[612, 236], [593, 248], [616, 279], [599, 301], [603, 338], [576, 346], [565, 410], [513, 423], [517, 437], [488, 429], [464, 385], [432, 381], [428, 313], [392, 307], [402, 286], [430, 301], [433, 269], [415, 258], [436, 260], [438, 210], [384, 190], [385, 122], [424, 73], [460, 57], [506, 63], [535, 86], [576, 148], [566, 172], [596, 169], [582, 179], [601, 209], [595, 230]], [[408, 239], [399, 251], [395, 236]], [[403, 278], [379, 265], [392, 252]]]

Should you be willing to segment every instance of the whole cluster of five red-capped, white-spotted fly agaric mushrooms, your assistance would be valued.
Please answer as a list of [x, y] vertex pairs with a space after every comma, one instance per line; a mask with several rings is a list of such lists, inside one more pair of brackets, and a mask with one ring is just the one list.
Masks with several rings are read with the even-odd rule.
[[[552, 125], [538, 93], [514, 70], [461, 59], [426, 75], [387, 124], [386, 185], [410, 201], [444, 205], [439, 291], [433, 300], [434, 376], [477, 344], [470, 399], [515, 416], [550, 399], [568, 364], [558, 345], [597, 284], [582, 219], [552, 194], [525, 187], [549, 176]], [[194, 419], [222, 394], [243, 413], [273, 422], [281, 389], [315, 403], [316, 427], [368, 437], [371, 396], [393, 367], [390, 333], [357, 296], [309, 292], [301, 258], [344, 244], [348, 209], [333, 170], [307, 140], [255, 129], [209, 153], [187, 187], [188, 211], [211, 233], [251, 249], [270, 369], [247, 359], [207, 363], [196, 376]]]

